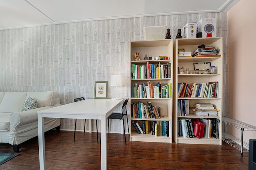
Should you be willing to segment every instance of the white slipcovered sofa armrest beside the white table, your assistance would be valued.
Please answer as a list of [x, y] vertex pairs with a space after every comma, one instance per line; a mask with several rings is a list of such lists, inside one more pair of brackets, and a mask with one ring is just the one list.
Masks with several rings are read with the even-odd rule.
[[59, 106], [58, 104], [54, 106], [44, 106], [36, 109], [31, 109], [27, 111], [19, 111], [12, 113], [10, 115], [10, 131], [14, 131], [17, 125], [24, 125], [31, 122], [37, 121], [37, 111], [48, 109], [50, 107]]

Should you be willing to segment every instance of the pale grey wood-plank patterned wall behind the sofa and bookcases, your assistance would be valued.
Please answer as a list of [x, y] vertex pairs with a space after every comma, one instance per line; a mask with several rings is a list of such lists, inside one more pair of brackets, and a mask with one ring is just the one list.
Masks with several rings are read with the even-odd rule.
[[[143, 27], [157, 25], [167, 25], [175, 39], [179, 28], [188, 22], [198, 22], [201, 18], [217, 20], [216, 33], [224, 41], [226, 87], [227, 14], [221, 12], [84, 21], [1, 30], [0, 91], [55, 90], [61, 104], [68, 104], [74, 98], [82, 96], [93, 98], [95, 81], [109, 81], [111, 74], [122, 74], [123, 87], [118, 97], [127, 98], [130, 96], [129, 42], [143, 40]], [[112, 91], [109, 86], [108, 98], [112, 98]], [[223, 110], [227, 113], [227, 88], [223, 92], [223, 101], [226, 101]], [[83, 121], [79, 120], [77, 126], [78, 130], [82, 130]], [[62, 119], [61, 129], [73, 130], [74, 120]], [[88, 130], [88, 125], [86, 129]], [[93, 131], [96, 131], [95, 126]], [[111, 131], [122, 131], [122, 124], [114, 121]]]

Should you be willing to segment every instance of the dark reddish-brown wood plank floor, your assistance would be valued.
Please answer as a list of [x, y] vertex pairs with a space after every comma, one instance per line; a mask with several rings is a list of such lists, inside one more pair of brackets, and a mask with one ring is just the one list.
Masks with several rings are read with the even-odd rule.
[[[96, 133], [49, 131], [45, 135], [49, 170], [100, 170], [100, 143]], [[100, 135], [100, 134], [99, 134]], [[128, 139], [128, 135], [126, 135]], [[0, 144], [0, 152], [13, 152]], [[222, 145], [127, 142], [124, 135], [107, 134], [108, 170], [246, 170], [248, 152]], [[19, 155], [0, 165], [0, 170], [39, 170], [38, 138], [20, 145]]]

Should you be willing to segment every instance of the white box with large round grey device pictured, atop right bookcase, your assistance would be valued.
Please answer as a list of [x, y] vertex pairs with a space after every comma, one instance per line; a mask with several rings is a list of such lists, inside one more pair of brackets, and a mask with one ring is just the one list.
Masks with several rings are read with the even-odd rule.
[[202, 37], [216, 37], [216, 18], [204, 18], [196, 24], [196, 33]]

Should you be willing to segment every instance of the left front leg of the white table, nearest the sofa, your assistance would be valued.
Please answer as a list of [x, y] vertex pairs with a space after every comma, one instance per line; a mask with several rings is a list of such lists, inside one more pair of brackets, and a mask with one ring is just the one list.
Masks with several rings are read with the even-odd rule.
[[42, 113], [38, 113], [38, 145], [40, 170], [46, 170], [44, 147], [44, 117], [42, 117]]

